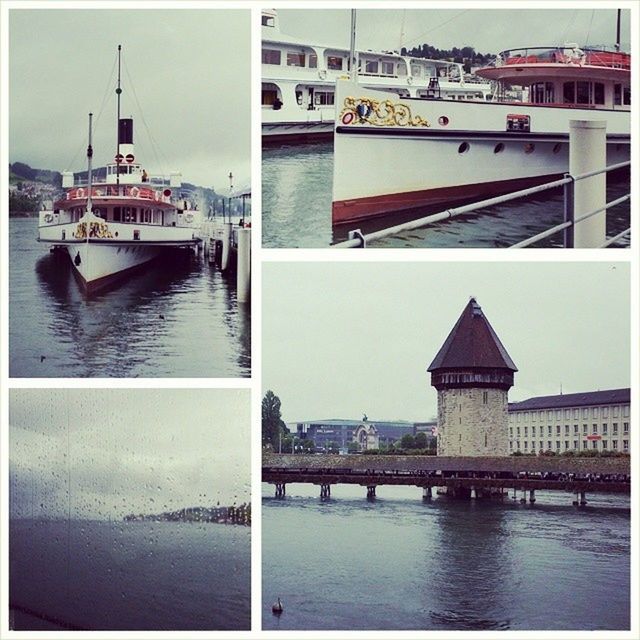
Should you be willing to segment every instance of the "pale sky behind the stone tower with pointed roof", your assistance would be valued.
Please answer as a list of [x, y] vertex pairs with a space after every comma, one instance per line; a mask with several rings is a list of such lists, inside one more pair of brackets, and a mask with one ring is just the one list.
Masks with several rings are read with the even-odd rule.
[[512, 401], [630, 384], [624, 263], [266, 263], [263, 391], [285, 422], [436, 415], [429, 366], [475, 296]]

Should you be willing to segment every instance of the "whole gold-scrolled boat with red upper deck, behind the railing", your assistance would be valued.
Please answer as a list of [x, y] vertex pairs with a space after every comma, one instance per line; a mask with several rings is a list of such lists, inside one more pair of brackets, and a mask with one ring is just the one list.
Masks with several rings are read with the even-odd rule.
[[[569, 122], [604, 120], [607, 164], [630, 154], [631, 57], [562, 47], [504, 51], [478, 75], [526, 102], [399, 98], [339, 81], [333, 222], [515, 191], [568, 171]], [[366, 158], [365, 168], [355, 170]]]

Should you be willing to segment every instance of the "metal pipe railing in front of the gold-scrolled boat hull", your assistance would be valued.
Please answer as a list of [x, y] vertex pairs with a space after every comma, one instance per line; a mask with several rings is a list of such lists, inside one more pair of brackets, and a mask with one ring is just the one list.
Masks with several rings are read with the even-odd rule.
[[[606, 212], [608, 209], [615, 207], [617, 205], [623, 204], [625, 202], [629, 202], [631, 200], [631, 194], [627, 193], [615, 200], [611, 200], [607, 202], [604, 206], [597, 207], [591, 211], [586, 213], [581, 213], [576, 216], [575, 211], [575, 189], [576, 184], [585, 180], [586, 178], [591, 178], [596, 175], [601, 175], [603, 173], [608, 173], [610, 171], [616, 171], [619, 169], [624, 169], [626, 167], [631, 166], [631, 161], [627, 160], [626, 162], [619, 162], [617, 164], [609, 165], [608, 167], [604, 167], [601, 169], [595, 169], [593, 171], [588, 171], [579, 175], [572, 176], [569, 173], [566, 173], [563, 178], [558, 180], [553, 180], [551, 182], [546, 182], [544, 184], [537, 185], [535, 187], [529, 187], [528, 189], [521, 189], [520, 191], [514, 191], [512, 193], [507, 193], [505, 195], [496, 196], [494, 198], [488, 198], [486, 200], [481, 200], [480, 202], [474, 202], [471, 204], [463, 205], [461, 207], [455, 207], [453, 209], [447, 209], [446, 211], [441, 211], [439, 213], [434, 213], [429, 216], [425, 216], [423, 218], [418, 218], [417, 220], [411, 220], [409, 222], [404, 222], [402, 224], [394, 225], [392, 227], [388, 227], [386, 229], [381, 229], [379, 231], [374, 231], [369, 234], [363, 234], [360, 229], [356, 229], [353, 231], [349, 231], [348, 240], [343, 242], [338, 242], [334, 244], [334, 247], [338, 248], [366, 248], [368, 243], [373, 242], [375, 240], [381, 240], [383, 238], [388, 238], [389, 236], [397, 235], [399, 233], [404, 233], [406, 231], [412, 231], [414, 229], [420, 229], [422, 227], [426, 227], [431, 224], [435, 224], [437, 222], [441, 222], [443, 220], [451, 220], [457, 216], [471, 213], [473, 211], [477, 211], [478, 209], [484, 209], [486, 207], [490, 207], [497, 204], [502, 204], [504, 202], [511, 202], [512, 200], [517, 200], [519, 198], [524, 198], [527, 196], [534, 195], [536, 193], [542, 193], [544, 191], [549, 191], [550, 189], [557, 189], [558, 187], [564, 188], [564, 221], [560, 224], [547, 229], [541, 233], [538, 233], [526, 240], [518, 242], [514, 245], [511, 245], [510, 249], [520, 249], [524, 247], [529, 247], [545, 238], [548, 238], [556, 233], [563, 232], [563, 246], [567, 249], [575, 248], [575, 229], [576, 226], [580, 223], [584, 222], [592, 218], [593, 216]], [[625, 229], [624, 231], [616, 234], [613, 237], [605, 238], [603, 242], [597, 245], [597, 248], [609, 247], [616, 242], [624, 239], [631, 233], [631, 227]]]

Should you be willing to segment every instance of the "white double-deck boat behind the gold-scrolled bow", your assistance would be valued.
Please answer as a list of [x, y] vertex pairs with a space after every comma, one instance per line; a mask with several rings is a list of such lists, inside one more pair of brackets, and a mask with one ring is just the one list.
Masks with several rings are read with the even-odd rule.
[[[465, 74], [463, 65], [400, 55], [357, 51], [359, 82], [403, 98], [488, 100], [491, 83]], [[349, 75], [348, 48], [312, 45], [283, 34], [275, 10], [262, 12], [263, 142], [332, 135], [335, 85]]]

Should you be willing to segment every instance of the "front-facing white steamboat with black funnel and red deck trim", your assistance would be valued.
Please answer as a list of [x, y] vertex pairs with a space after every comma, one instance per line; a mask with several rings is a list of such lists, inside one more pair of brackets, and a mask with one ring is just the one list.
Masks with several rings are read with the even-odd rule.
[[38, 240], [68, 253], [88, 292], [166, 248], [193, 248], [199, 242], [201, 211], [181, 190], [180, 174], [150, 176], [135, 156], [133, 119], [119, 118], [117, 129], [115, 157], [106, 175], [94, 180], [90, 125], [87, 178], [63, 173], [64, 196], [39, 216]]

